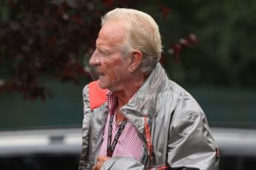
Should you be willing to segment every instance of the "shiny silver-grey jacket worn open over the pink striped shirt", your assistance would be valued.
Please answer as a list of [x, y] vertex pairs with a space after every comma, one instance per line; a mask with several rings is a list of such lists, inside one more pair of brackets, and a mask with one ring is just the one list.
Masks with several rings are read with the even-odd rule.
[[[102, 144], [108, 115], [106, 103], [90, 109], [88, 85], [83, 89], [84, 120], [79, 170], [92, 169]], [[160, 64], [120, 111], [133, 123], [144, 142], [140, 162], [131, 157], [112, 157], [102, 169], [218, 169], [219, 154], [206, 115], [197, 101], [168, 79]], [[146, 118], [146, 119], [145, 119]], [[145, 122], [145, 120], [147, 122]], [[148, 156], [145, 123], [150, 126], [152, 156]]]

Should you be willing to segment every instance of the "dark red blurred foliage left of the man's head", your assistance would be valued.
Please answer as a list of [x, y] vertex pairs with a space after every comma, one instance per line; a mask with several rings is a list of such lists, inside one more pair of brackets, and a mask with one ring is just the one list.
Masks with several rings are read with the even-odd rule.
[[[82, 55], [94, 47], [100, 17], [114, 6], [134, 1], [1, 1], [9, 13], [0, 23], [0, 94], [20, 92], [25, 99], [51, 96], [39, 79], [79, 83]], [[1, 71], [0, 70], [0, 71]], [[88, 77], [89, 78], [89, 77]]]

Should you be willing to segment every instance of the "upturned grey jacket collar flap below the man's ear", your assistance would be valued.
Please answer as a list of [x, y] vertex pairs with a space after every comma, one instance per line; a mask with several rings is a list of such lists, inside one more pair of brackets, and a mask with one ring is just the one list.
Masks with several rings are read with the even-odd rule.
[[142, 134], [144, 118], [147, 117], [148, 124], [151, 124], [152, 118], [157, 114], [157, 101], [160, 99], [165, 79], [168, 79], [165, 70], [158, 63], [134, 97], [120, 109]]

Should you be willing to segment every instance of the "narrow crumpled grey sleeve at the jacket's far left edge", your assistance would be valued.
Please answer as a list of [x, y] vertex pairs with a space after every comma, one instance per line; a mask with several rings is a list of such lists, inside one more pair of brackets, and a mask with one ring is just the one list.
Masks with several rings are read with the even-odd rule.
[[82, 97], [84, 103], [84, 118], [82, 121], [82, 154], [79, 161], [79, 170], [86, 170], [90, 169], [89, 144], [93, 118], [93, 112], [90, 109], [90, 102], [88, 99], [88, 85], [82, 90]]

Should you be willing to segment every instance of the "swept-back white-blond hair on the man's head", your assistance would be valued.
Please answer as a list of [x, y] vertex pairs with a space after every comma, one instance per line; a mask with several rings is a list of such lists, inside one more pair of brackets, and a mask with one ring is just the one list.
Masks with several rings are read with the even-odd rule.
[[161, 35], [156, 21], [139, 10], [116, 8], [102, 17], [102, 26], [114, 19], [122, 21], [127, 30], [125, 41], [122, 44], [125, 52], [140, 50], [143, 56], [140, 69], [148, 74], [160, 61], [163, 52]]

